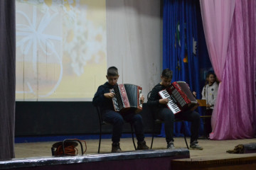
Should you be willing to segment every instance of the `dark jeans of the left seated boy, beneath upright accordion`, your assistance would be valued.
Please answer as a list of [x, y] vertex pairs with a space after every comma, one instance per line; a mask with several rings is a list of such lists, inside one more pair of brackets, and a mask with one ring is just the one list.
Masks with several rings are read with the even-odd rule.
[[120, 142], [124, 121], [132, 123], [134, 126], [137, 141], [144, 141], [144, 125], [142, 115], [134, 113], [125, 113], [121, 115], [120, 113], [109, 110], [103, 113], [103, 120], [113, 125], [112, 142]]

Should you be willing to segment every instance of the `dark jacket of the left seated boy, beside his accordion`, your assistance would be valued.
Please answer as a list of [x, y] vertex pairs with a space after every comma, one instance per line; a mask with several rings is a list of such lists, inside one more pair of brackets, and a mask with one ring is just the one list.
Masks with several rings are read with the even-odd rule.
[[113, 89], [108, 82], [98, 87], [95, 96], [92, 99], [92, 104], [94, 106], [99, 106], [100, 111], [103, 113], [107, 110], [114, 111], [114, 106], [111, 98], [105, 98], [104, 94], [110, 93], [110, 89]]

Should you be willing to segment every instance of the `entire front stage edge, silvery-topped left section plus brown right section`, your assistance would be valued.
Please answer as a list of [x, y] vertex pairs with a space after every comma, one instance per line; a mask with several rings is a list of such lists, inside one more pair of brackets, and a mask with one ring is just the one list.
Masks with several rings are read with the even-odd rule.
[[256, 169], [256, 156], [232, 159], [191, 159], [189, 150], [160, 149], [74, 157], [31, 157], [0, 162], [0, 169]]

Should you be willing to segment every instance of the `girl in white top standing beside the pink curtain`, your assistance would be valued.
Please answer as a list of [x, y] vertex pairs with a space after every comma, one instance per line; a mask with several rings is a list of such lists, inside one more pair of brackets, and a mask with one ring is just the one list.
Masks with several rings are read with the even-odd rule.
[[[218, 93], [218, 81], [216, 75], [213, 72], [209, 72], [206, 77], [206, 85], [203, 86], [202, 99], [206, 100], [206, 115], [212, 115], [213, 108]], [[206, 137], [209, 137], [209, 133], [212, 131], [210, 118], [206, 118], [204, 129]]]

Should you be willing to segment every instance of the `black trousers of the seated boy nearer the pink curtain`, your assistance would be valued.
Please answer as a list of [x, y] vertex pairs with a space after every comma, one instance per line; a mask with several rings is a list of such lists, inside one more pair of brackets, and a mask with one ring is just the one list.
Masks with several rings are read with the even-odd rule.
[[200, 115], [196, 111], [186, 111], [174, 115], [169, 108], [162, 108], [159, 111], [158, 118], [164, 121], [166, 142], [174, 141], [174, 118], [191, 122], [191, 142], [198, 140]]

